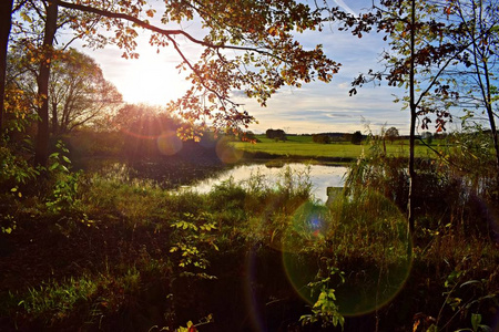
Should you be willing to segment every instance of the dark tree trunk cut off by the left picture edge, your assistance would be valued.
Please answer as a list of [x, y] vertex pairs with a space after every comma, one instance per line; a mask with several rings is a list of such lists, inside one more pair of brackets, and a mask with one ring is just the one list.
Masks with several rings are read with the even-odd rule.
[[7, 76], [7, 51], [9, 48], [9, 34], [12, 27], [13, 0], [0, 1], [0, 133], [4, 125], [4, 100], [6, 100], [6, 76]]

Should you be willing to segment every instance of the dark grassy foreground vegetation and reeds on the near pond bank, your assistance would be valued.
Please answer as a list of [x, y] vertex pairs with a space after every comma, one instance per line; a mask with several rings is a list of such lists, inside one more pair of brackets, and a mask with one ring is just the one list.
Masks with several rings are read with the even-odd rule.
[[62, 148], [35, 185], [2, 178], [0, 330], [497, 329], [497, 184], [478, 135], [419, 159], [411, 246], [406, 163], [376, 139], [330, 206], [292, 169], [277, 187], [174, 193], [70, 172]]

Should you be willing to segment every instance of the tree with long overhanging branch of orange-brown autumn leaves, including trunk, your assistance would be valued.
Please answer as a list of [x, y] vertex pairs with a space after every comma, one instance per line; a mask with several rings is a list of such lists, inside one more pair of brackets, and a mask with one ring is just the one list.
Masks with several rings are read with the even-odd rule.
[[[301, 86], [302, 82], [314, 79], [328, 82], [339, 68], [327, 59], [320, 45], [305, 50], [296, 41], [295, 32], [322, 29], [323, 18], [320, 9], [313, 10], [295, 1], [167, 1], [161, 21], [170, 25], [177, 23], [179, 29], [151, 24], [145, 18], [154, 17], [155, 11], [144, 9], [146, 1], [121, 1], [114, 10], [109, 9], [108, 2], [93, 0], [42, 3], [45, 6], [39, 12], [44, 14], [45, 30], [38, 80], [42, 103], [35, 153], [35, 160], [41, 165], [48, 157], [47, 86], [59, 7], [70, 10], [70, 13], [84, 13], [67, 20], [77, 38], [92, 38], [90, 44], [95, 46], [113, 42], [124, 50], [125, 58], [139, 56], [134, 41], [139, 35], [138, 29], [152, 33], [152, 45], [171, 45], [182, 59], [179, 68], [190, 71], [189, 80], [193, 83], [184, 97], [172, 103], [171, 107], [179, 110], [191, 124], [247, 127], [254, 117], [231, 100], [234, 89], [265, 105], [266, 100], [284, 84]], [[206, 33], [202, 39], [182, 30], [180, 23], [189, 20], [201, 22], [203, 33]], [[98, 28], [112, 31], [114, 37], [101, 34]], [[187, 43], [201, 49], [197, 63], [187, 59], [183, 52], [185, 45], [175, 37], [183, 37]], [[194, 135], [192, 131], [181, 134], [184, 137]]]

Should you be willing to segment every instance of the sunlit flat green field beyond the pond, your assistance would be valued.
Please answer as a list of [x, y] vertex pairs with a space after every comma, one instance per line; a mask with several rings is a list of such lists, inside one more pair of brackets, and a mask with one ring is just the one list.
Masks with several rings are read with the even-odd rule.
[[[367, 153], [371, 145], [363, 142], [361, 145], [352, 143], [318, 144], [312, 141], [312, 136], [288, 136], [286, 142], [275, 142], [264, 135], [257, 135], [258, 143], [234, 142], [237, 149], [248, 153], [265, 153], [288, 157], [310, 157], [310, 158], [339, 158], [356, 159], [361, 153]], [[434, 143], [434, 144], [438, 144]], [[436, 145], [434, 146], [436, 147]], [[387, 155], [405, 157], [409, 155], [408, 141], [395, 141], [386, 143]], [[416, 146], [416, 157], [434, 157], [435, 153], [425, 145]]]

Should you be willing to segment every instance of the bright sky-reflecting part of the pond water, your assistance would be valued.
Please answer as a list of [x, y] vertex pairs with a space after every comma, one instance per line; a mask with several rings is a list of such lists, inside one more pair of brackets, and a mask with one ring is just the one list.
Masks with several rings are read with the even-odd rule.
[[247, 184], [253, 177], [262, 177], [268, 186], [276, 185], [283, 179], [286, 167], [289, 166], [293, 174], [307, 176], [312, 183], [312, 194], [323, 203], [327, 200], [327, 187], [343, 187], [344, 176], [347, 172], [345, 166], [305, 165], [299, 163], [286, 164], [283, 167], [268, 167], [264, 164], [240, 165], [234, 168], [216, 174], [214, 177], [201, 180], [190, 186], [197, 193], [208, 193], [213, 186], [222, 181], [233, 179], [236, 184]]

